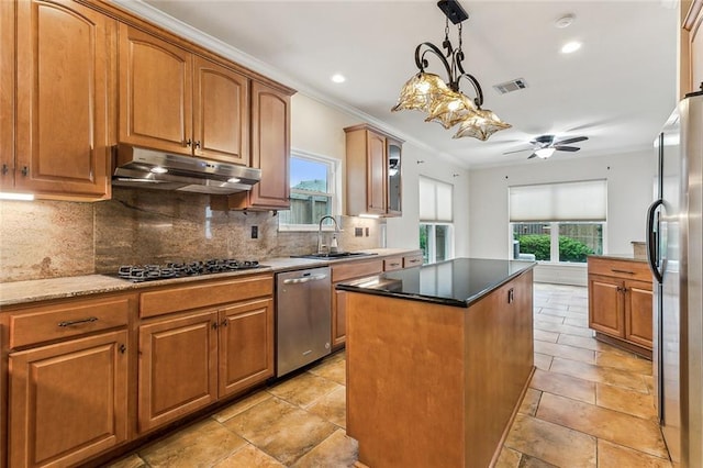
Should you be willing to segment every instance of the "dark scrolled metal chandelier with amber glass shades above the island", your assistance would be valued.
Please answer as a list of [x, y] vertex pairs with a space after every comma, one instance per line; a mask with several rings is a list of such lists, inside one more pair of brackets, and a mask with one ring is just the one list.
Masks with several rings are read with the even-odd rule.
[[[423, 111], [427, 113], [425, 122], [437, 122], [445, 129], [459, 125], [454, 138], [472, 136], [486, 141], [493, 133], [510, 129], [511, 125], [501, 121], [492, 111], [481, 109], [483, 105], [481, 86], [473, 76], [464, 70], [461, 65], [465, 58], [461, 49], [461, 22], [467, 20], [469, 15], [456, 0], [440, 0], [437, 2], [437, 7], [447, 16], [444, 42], [442, 43], [442, 46], [447, 51], [446, 55], [442, 53], [439, 47], [428, 42], [423, 42], [415, 48], [415, 65], [420, 71], [405, 82], [398, 98], [398, 103], [391, 111], [397, 112], [404, 109]], [[451, 23], [458, 24], [459, 46], [457, 48], [454, 48], [449, 41], [449, 20]], [[439, 58], [447, 71], [448, 81], [445, 82], [438, 75], [425, 71], [429, 65], [425, 58], [427, 53], [433, 53]], [[467, 97], [459, 89], [461, 78], [473, 88], [476, 94], [473, 99]]]

